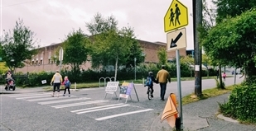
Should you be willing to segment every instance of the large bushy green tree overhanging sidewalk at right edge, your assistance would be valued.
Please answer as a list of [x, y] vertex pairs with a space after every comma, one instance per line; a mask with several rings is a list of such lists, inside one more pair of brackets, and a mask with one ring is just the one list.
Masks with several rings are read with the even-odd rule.
[[248, 11], [213, 27], [202, 40], [205, 53], [223, 65], [244, 67], [247, 78], [256, 73], [256, 11]]

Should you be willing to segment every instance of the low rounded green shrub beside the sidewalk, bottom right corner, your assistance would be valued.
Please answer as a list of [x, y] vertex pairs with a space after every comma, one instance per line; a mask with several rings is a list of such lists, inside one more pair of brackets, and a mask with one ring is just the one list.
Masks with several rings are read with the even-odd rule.
[[234, 119], [256, 123], [256, 87], [240, 86], [234, 88], [229, 101], [219, 104], [220, 111]]

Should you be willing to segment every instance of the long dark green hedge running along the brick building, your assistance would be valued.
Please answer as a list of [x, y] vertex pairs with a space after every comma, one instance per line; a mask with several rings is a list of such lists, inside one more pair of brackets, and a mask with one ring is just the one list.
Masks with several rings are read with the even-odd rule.
[[[157, 72], [160, 70], [161, 65], [156, 63], [141, 63], [136, 68], [136, 78], [142, 79], [146, 78], [148, 72], [152, 72], [156, 77]], [[176, 63], [167, 63], [167, 71], [171, 74], [171, 78], [176, 77]], [[123, 68], [118, 70], [117, 81], [123, 80], [134, 80], [134, 68]], [[204, 72], [204, 71], [203, 71]], [[114, 71], [106, 70], [81, 70], [80, 72], [72, 72], [69, 70], [61, 70], [62, 77], [68, 76], [70, 82], [99, 82], [101, 77], [109, 77], [111, 80], [114, 80]], [[4, 74], [3, 74], [4, 75]], [[41, 87], [44, 86], [41, 84], [42, 80], [46, 80], [46, 85], [50, 85], [51, 77], [54, 73], [50, 72], [40, 72], [40, 73], [17, 73], [14, 75], [16, 84], [18, 87]], [[181, 77], [191, 77], [194, 76], [194, 71], [191, 72], [191, 69], [186, 64], [181, 64]], [[4, 77], [4, 76], [2, 76]], [[109, 80], [109, 79], [108, 79]], [[5, 83], [5, 79], [0, 79], [0, 82]]]

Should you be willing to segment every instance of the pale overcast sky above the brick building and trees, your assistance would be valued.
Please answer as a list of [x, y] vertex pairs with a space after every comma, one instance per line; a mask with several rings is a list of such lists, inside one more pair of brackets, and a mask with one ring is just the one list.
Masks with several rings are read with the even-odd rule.
[[[187, 49], [194, 49], [192, 0], [180, 0], [188, 7]], [[21, 18], [40, 40], [40, 46], [60, 43], [65, 35], [81, 28], [89, 35], [85, 22], [99, 12], [115, 16], [118, 27], [132, 26], [139, 40], [167, 42], [163, 18], [171, 0], [1, 0], [2, 30], [12, 30]]]

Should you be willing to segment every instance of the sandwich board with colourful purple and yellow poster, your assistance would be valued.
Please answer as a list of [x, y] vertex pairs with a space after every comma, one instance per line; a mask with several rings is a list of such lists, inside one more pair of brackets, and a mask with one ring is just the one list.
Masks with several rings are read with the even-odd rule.
[[126, 99], [125, 103], [127, 103], [128, 97], [130, 97], [130, 99], [132, 100], [131, 94], [133, 90], [135, 91], [135, 94], [138, 99], [138, 94], [137, 94], [136, 88], [134, 87], [133, 82], [123, 82], [122, 86], [120, 87], [120, 94], [119, 94], [118, 101], [120, 100], [120, 98], [125, 98]]

